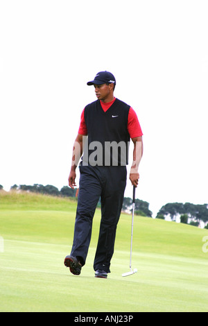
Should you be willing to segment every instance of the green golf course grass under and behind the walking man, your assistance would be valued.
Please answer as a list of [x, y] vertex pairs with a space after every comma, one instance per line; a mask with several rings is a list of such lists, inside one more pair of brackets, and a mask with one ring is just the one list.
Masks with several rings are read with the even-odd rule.
[[111, 272], [94, 277], [101, 213], [96, 211], [87, 262], [69, 273], [76, 201], [0, 191], [0, 311], [207, 311], [208, 230], [135, 216], [129, 277], [131, 216], [121, 214]]

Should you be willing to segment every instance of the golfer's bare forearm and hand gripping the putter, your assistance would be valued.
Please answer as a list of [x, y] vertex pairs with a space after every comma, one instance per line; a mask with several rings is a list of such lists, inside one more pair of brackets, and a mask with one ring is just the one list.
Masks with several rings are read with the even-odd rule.
[[133, 186], [137, 187], [139, 183], [139, 163], [143, 155], [142, 136], [132, 138], [132, 141], [134, 143], [134, 151], [133, 151], [133, 163], [130, 171], [130, 181], [132, 182]]

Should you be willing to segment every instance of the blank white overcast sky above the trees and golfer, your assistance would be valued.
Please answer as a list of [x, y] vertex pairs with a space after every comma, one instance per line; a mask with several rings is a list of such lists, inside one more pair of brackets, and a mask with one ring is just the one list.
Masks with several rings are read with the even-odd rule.
[[137, 198], [153, 216], [208, 203], [207, 17], [207, 0], [0, 0], [0, 185], [67, 185], [86, 83], [108, 70], [144, 132]]

